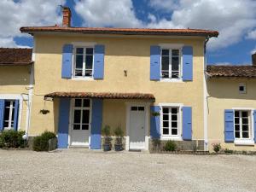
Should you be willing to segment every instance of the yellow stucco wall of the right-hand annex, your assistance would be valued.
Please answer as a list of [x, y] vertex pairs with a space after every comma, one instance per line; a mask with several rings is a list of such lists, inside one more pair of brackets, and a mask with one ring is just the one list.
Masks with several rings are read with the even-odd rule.
[[[240, 94], [240, 83], [247, 85], [247, 93]], [[254, 146], [238, 146], [224, 143], [224, 109], [256, 108], [256, 79], [209, 79], [208, 90], [208, 138], [212, 143], [221, 143], [223, 148], [235, 150], [256, 150]]]

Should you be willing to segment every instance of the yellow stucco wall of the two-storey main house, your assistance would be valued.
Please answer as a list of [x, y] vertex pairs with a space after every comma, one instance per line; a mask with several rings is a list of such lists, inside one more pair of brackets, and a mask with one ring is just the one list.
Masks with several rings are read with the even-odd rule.
[[[61, 50], [63, 44], [95, 42], [105, 45], [103, 80], [61, 79]], [[154, 94], [155, 105], [160, 102], [183, 103], [193, 108], [193, 138], [203, 139], [203, 44], [204, 38], [164, 37], [93, 37], [35, 35], [35, 88], [32, 98], [31, 134], [56, 129], [53, 102], [44, 102], [44, 95], [54, 91], [141, 92]], [[149, 80], [150, 45], [187, 44], [193, 46], [192, 82], [154, 82]], [[124, 75], [127, 70], [127, 77]], [[124, 109], [106, 102], [104, 111]], [[47, 115], [40, 109], [49, 109]], [[104, 112], [105, 113], [105, 112]], [[115, 112], [113, 112], [115, 113]], [[108, 114], [103, 114], [108, 116]], [[124, 114], [125, 116], [125, 114]], [[115, 120], [115, 119], [113, 119]], [[122, 125], [124, 124], [122, 118]], [[104, 122], [103, 122], [104, 123]], [[108, 122], [110, 123], [110, 122]], [[117, 123], [113, 123], [115, 125]]]

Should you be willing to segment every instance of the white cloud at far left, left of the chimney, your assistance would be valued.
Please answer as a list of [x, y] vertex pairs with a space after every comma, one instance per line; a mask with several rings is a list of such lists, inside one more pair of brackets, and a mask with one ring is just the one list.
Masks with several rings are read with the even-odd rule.
[[53, 26], [61, 23], [61, 0], [0, 1], [0, 47], [20, 47], [14, 38], [25, 36], [20, 26]]

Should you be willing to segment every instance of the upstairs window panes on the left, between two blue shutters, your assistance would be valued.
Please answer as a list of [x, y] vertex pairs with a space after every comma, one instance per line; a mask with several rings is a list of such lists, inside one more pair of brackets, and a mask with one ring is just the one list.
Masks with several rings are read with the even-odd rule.
[[74, 55], [74, 77], [92, 77], [93, 48], [77, 47]]

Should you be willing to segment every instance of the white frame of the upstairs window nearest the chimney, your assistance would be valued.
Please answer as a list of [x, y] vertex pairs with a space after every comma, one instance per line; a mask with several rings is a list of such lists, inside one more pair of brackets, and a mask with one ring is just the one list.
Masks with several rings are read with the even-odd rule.
[[[77, 48], [83, 48], [83, 71], [82, 71], [82, 76], [76, 76], [75, 71], [76, 71], [76, 50]], [[87, 48], [92, 48], [93, 53], [92, 53], [92, 69], [91, 69], [91, 76], [85, 76], [85, 71], [86, 71], [86, 64], [85, 64], [85, 57], [86, 57], [86, 49]], [[73, 46], [73, 67], [72, 67], [72, 78], [75, 80], [91, 80], [93, 79], [93, 74], [94, 74], [94, 56], [95, 56], [95, 45], [94, 44], [75, 44]]]

